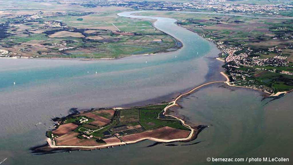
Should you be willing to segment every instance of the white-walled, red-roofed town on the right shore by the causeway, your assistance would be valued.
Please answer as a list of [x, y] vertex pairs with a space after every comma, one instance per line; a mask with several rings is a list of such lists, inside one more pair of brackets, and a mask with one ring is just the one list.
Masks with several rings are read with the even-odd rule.
[[216, 43], [218, 48], [222, 50], [223, 53], [220, 55], [220, 58], [225, 61], [224, 68], [226, 69], [231, 84], [233, 85], [251, 87], [254, 89], [274, 93], [274, 88], [268, 87], [267, 85], [261, 84], [261, 82], [253, 80], [255, 77], [255, 72], [266, 71], [271, 73], [280, 73], [288, 76], [293, 75], [292, 62], [287, 60], [288, 56], [282, 55], [282, 49], [279, 49], [277, 46], [268, 48], [266, 51], [276, 52], [279, 55], [276, 55], [272, 58], [261, 58], [260, 56], [255, 56], [255, 54], [260, 52], [255, 51], [250, 47], [244, 45], [231, 46], [229, 43], [223, 43], [221, 41], [215, 42], [211, 38], [207, 39]]

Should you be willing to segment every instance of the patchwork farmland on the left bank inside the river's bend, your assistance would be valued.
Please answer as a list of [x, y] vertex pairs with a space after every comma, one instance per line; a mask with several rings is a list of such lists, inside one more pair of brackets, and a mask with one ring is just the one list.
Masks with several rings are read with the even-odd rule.
[[[54, 11], [55, 3], [48, 3], [51, 4], [48, 10], [26, 10], [26, 4], [16, 4], [24, 6], [4, 11], [9, 18], [0, 14], [3, 22], [13, 25], [5, 27], [6, 37], [0, 37], [0, 49], [8, 50], [8, 57], [120, 58], [178, 49], [171, 36], [154, 28], [149, 21], [117, 16], [127, 8], [63, 5], [62, 10]], [[32, 6], [36, 4], [32, 2]], [[24, 16], [18, 17], [19, 13]], [[32, 21], [30, 16], [37, 18]], [[72, 35], [54, 35], [59, 31], [72, 32]], [[155, 39], [162, 42], [155, 43]]]

